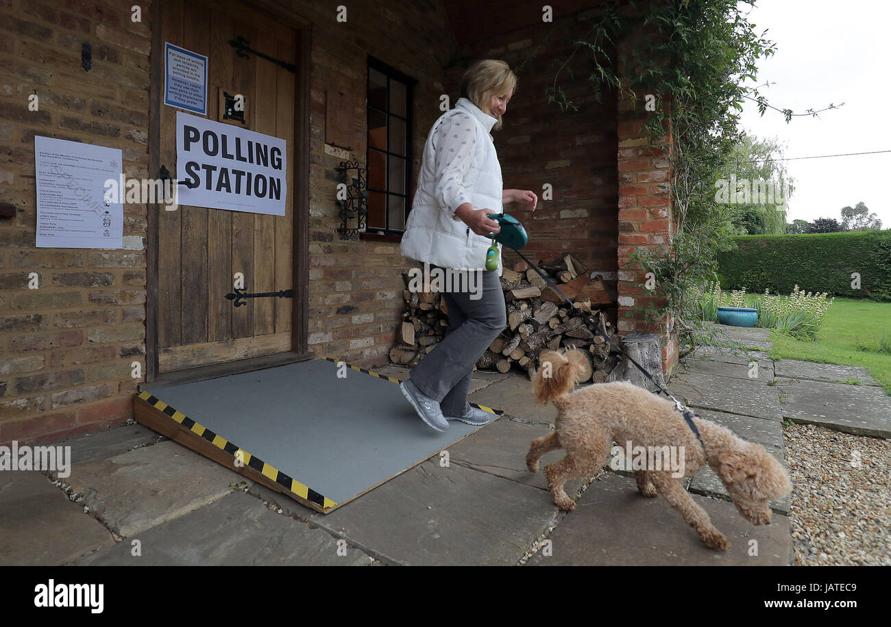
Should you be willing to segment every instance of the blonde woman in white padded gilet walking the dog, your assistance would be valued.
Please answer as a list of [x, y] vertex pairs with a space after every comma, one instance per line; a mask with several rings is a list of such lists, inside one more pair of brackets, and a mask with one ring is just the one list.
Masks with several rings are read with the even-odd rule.
[[[519, 202], [535, 211], [531, 191], [502, 189], [501, 165], [491, 129], [502, 117], [517, 86], [517, 76], [500, 60], [479, 60], [462, 78], [462, 97], [431, 129], [424, 146], [421, 175], [400, 252], [406, 257], [478, 279], [457, 289], [446, 285], [443, 298], [449, 326], [442, 342], [399, 387], [429, 427], [448, 429], [449, 420], [486, 424], [490, 414], [467, 402], [473, 366], [507, 326], [501, 245], [498, 267], [486, 270], [489, 237], [501, 229], [488, 218], [503, 205]], [[429, 266], [428, 266], [429, 267]], [[481, 293], [480, 293], [481, 292]]]

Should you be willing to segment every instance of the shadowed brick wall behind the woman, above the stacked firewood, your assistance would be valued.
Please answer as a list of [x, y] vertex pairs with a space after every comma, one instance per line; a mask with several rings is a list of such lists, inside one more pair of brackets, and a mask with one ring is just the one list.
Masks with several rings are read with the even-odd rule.
[[[542, 253], [573, 253], [589, 271], [615, 286], [617, 279], [617, 122], [616, 98], [605, 93], [602, 102], [580, 76], [590, 68], [583, 55], [572, 55], [572, 42], [590, 28], [594, 12], [576, 14], [579, 20], [550, 36], [554, 24], [542, 23], [497, 36], [462, 50], [471, 60], [501, 59], [518, 74], [518, 87], [504, 116], [503, 129], [492, 133], [502, 165], [504, 187], [531, 189], [539, 197], [535, 212], [507, 205], [527, 228], [529, 244], [523, 253], [534, 260]], [[559, 66], [570, 59], [560, 82], [578, 110], [563, 112], [549, 103]], [[457, 94], [466, 63], [446, 75]], [[585, 70], [588, 69], [586, 72]], [[570, 80], [572, 71], [576, 80]], [[542, 200], [544, 185], [552, 186], [552, 200]], [[509, 263], [519, 261], [504, 251]], [[615, 322], [615, 310], [609, 309]]]

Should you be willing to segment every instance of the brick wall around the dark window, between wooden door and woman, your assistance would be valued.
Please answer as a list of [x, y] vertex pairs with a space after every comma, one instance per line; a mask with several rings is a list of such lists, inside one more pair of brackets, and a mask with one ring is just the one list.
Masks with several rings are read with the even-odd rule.
[[[315, 6], [315, 4], [314, 4]], [[326, 90], [343, 92], [355, 111], [348, 158], [366, 164], [366, 55], [418, 80], [413, 92], [413, 163], [409, 202], [421, 169], [430, 127], [442, 114], [443, 66], [454, 52], [446, 12], [437, 2], [349, 5], [347, 24], [334, 11], [299, 12], [313, 20], [310, 84], [309, 345], [320, 357], [357, 366], [388, 362], [404, 307], [402, 273], [411, 262], [399, 253], [397, 237], [341, 241], [335, 201], [335, 170], [345, 160], [326, 152]], [[347, 26], [348, 25], [348, 26]], [[382, 36], [386, 32], [387, 36]], [[399, 35], [397, 35], [399, 34]], [[337, 152], [327, 147], [328, 152]], [[355, 226], [355, 223], [353, 224]]]

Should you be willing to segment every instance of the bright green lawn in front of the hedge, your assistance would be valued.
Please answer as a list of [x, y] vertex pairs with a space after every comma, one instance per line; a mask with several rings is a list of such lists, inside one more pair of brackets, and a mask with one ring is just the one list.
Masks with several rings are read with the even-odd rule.
[[891, 302], [837, 298], [826, 312], [815, 342], [802, 342], [772, 331], [771, 357], [863, 366], [891, 395], [891, 353], [857, 348], [858, 340], [878, 344], [883, 335], [891, 337]]

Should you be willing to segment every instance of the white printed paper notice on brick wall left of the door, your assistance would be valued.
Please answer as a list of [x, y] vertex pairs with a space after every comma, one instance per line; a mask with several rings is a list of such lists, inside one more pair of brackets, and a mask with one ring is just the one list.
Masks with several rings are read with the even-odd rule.
[[120, 149], [34, 136], [37, 247], [122, 248], [124, 208], [106, 194]]

